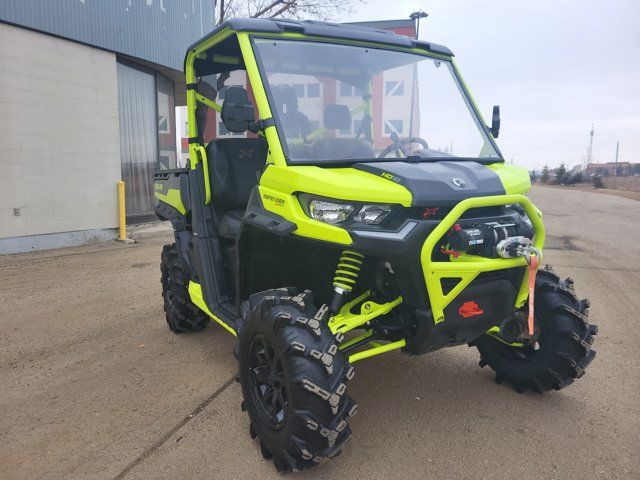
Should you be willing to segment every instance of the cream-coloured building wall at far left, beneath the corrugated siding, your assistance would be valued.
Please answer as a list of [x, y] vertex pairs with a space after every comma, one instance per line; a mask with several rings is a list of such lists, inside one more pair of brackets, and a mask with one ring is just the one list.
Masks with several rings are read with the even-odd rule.
[[117, 88], [115, 54], [0, 23], [0, 253], [112, 235]]

